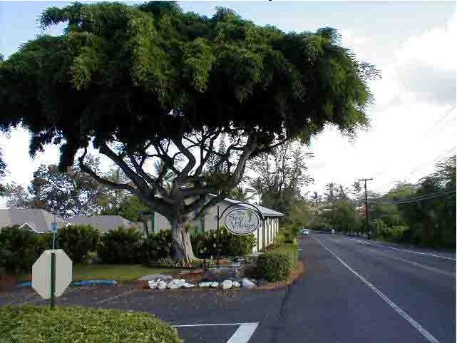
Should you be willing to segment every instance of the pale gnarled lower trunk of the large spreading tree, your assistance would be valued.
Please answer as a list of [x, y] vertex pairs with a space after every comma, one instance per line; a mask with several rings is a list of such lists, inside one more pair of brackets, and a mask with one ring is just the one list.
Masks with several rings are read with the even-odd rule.
[[172, 257], [182, 262], [183, 265], [190, 265], [192, 260], [195, 260], [195, 255], [192, 251], [189, 232], [183, 226], [183, 215], [174, 217], [170, 222], [173, 238], [171, 246]]

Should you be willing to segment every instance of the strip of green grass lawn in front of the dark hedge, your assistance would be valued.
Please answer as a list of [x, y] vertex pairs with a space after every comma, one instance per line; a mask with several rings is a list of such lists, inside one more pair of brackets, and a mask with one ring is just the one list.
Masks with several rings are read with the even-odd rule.
[[[149, 268], [144, 265], [73, 265], [73, 281], [80, 280], [116, 280], [120, 282], [135, 281], [148, 274], [170, 274], [180, 272], [178, 269]], [[31, 275], [18, 275], [18, 280], [31, 280]]]

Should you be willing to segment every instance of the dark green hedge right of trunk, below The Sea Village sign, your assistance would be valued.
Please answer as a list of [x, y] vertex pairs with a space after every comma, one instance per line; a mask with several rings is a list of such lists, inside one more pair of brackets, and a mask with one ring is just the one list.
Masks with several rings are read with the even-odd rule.
[[220, 247], [221, 256], [247, 256], [257, 246], [255, 235], [233, 235], [225, 226], [217, 230], [197, 233], [190, 237], [194, 255], [199, 258], [217, 256], [217, 247]]

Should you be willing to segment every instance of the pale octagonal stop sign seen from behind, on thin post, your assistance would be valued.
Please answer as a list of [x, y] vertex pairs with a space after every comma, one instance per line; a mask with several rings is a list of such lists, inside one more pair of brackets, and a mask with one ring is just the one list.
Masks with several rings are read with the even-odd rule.
[[71, 283], [73, 262], [61, 250], [45, 250], [32, 267], [32, 287], [43, 299], [51, 299], [51, 308]]

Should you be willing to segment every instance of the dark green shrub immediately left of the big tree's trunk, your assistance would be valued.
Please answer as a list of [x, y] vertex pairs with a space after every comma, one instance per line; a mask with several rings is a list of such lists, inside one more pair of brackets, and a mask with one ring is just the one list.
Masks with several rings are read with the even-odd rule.
[[160, 230], [158, 233], [150, 233], [148, 238], [141, 244], [141, 262], [150, 264], [160, 258], [170, 257], [172, 241], [171, 230]]

